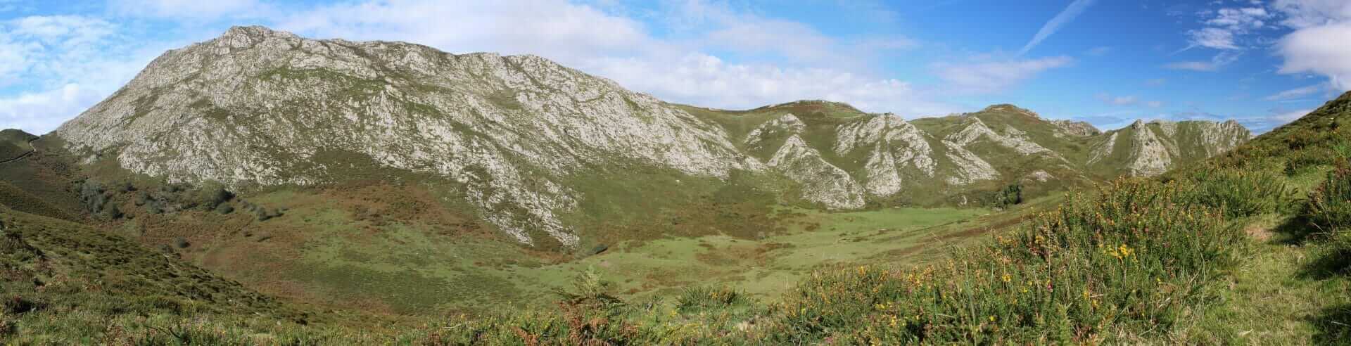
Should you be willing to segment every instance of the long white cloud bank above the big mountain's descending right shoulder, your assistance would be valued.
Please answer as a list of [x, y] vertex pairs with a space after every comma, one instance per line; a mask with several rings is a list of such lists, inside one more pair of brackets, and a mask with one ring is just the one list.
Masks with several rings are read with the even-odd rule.
[[[815, 28], [739, 14], [698, 1], [676, 8], [674, 26], [703, 30], [665, 41], [628, 18], [566, 1], [503, 1], [446, 7], [394, 0], [322, 7], [289, 15], [280, 28], [346, 39], [408, 41], [451, 53], [538, 54], [658, 97], [721, 108], [798, 99], [847, 101], [867, 111], [935, 114], [957, 109], [925, 101], [911, 84], [840, 69], [848, 54], [905, 49], [905, 38], [842, 43]], [[766, 53], [805, 66], [730, 64], [704, 49]], [[812, 68], [821, 62], [831, 68]]]

